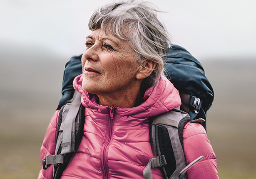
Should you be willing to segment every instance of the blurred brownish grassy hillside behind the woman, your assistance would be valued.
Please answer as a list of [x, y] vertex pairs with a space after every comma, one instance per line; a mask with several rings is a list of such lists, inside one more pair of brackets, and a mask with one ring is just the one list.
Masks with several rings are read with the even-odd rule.
[[[7, 55], [8, 54], [8, 55]], [[0, 178], [37, 178], [42, 138], [61, 98], [67, 59], [1, 54]], [[256, 179], [256, 62], [204, 61], [215, 90], [207, 132], [221, 179]]]

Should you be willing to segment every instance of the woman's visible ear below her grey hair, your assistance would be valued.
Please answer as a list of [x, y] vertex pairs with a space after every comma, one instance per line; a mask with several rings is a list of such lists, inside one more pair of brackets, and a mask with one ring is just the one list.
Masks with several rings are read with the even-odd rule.
[[149, 75], [152, 74], [152, 72], [156, 68], [156, 65], [157, 63], [154, 61], [150, 61], [150, 60], [144, 61], [144, 63], [140, 66], [139, 71], [137, 72], [136, 78], [138, 80], [147, 78]]

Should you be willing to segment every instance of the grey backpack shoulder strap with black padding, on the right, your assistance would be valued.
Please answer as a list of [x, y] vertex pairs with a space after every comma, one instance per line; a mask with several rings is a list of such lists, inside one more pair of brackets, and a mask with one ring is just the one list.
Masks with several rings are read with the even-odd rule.
[[154, 117], [150, 138], [153, 154], [157, 157], [150, 159], [144, 169], [145, 179], [152, 179], [151, 168], [154, 167], [161, 167], [165, 178], [178, 179], [179, 172], [186, 167], [182, 131], [189, 120], [189, 115], [179, 109]]

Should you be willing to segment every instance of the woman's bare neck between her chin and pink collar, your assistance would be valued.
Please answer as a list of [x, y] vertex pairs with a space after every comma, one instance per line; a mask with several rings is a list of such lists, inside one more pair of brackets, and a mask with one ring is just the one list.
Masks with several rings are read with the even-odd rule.
[[142, 96], [139, 88], [127, 91], [117, 91], [111, 94], [100, 94], [99, 104], [105, 106], [115, 106], [118, 108], [132, 108], [142, 103]]

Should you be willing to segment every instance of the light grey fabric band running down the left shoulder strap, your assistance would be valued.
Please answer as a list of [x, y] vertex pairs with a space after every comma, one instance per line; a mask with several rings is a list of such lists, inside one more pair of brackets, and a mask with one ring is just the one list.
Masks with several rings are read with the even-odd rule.
[[77, 91], [74, 93], [73, 101], [70, 110], [67, 113], [67, 119], [63, 123], [63, 138], [61, 154], [67, 154], [75, 151], [75, 118], [81, 105], [81, 94]]

